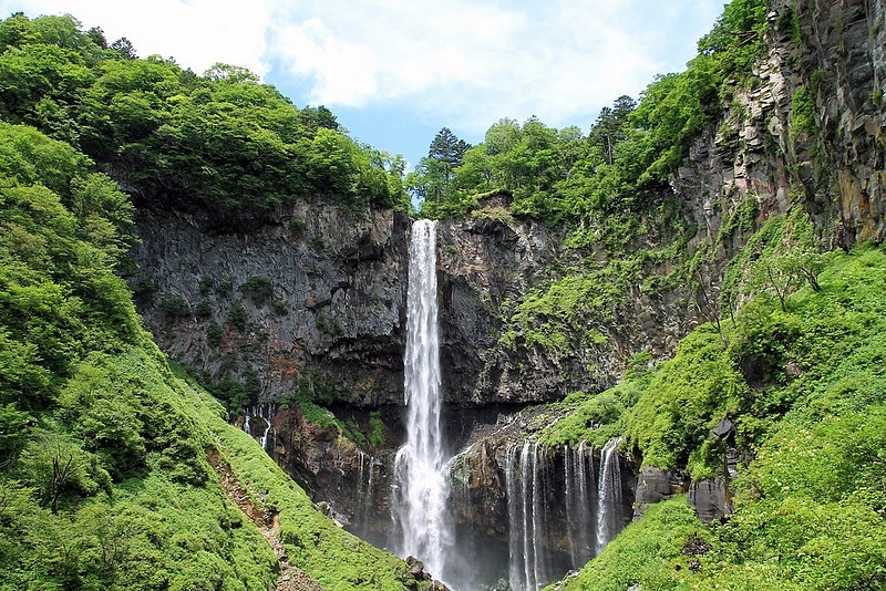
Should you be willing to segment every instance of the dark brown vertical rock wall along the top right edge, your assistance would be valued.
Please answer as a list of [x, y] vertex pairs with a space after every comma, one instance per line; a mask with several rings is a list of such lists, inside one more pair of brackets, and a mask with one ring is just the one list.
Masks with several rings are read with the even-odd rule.
[[[844, 243], [886, 238], [886, 2], [803, 0], [776, 3], [773, 18], [796, 7], [800, 46], [793, 55], [815, 97], [810, 139], [820, 157], [806, 170], [814, 209], [833, 220]], [[786, 31], [775, 28], [785, 45]], [[803, 172], [802, 172], [803, 173]], [[807, 185], [808, 186], [808, 185]]]

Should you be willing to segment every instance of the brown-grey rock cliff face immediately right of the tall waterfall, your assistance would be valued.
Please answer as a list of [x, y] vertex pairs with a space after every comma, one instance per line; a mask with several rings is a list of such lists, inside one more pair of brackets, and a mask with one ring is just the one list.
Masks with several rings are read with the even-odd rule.
[[[504, 203], [502, 203], [504, 201]], [[503, 341], [508, 319], [533, 290], [581, 263], [564, 246], [562, 228], [514, 219], [505, 197], [471, 217], [440, 225], [441, 363], [447, 400], [461, 406], [552, 401], [614, 385], [633, 353], [664, 357], [697, 322], [681, 288], [646, 293], [629, 287], [607, 324], [586, 319], [602, 343], [569, 343], [566, 351]], [[589, 370], [593, 367], [593, 370]]]

